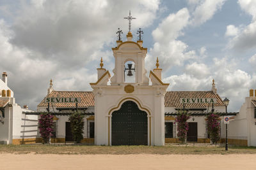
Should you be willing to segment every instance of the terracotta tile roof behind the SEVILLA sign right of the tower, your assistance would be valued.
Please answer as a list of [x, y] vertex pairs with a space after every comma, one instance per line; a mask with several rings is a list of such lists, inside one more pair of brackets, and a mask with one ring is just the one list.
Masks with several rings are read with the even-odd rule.
[[[222, 99], [218, 94], [212, 91], [171, 91], [166, 92], [164, 97], [165, 107], [183, 108], [180, 104], [180, 98], [216, 98], [217, 103], [214, 106], [224, 106]], [[186, 108], [207, 108], [209, 104], [191, 103], [186, 104]]]

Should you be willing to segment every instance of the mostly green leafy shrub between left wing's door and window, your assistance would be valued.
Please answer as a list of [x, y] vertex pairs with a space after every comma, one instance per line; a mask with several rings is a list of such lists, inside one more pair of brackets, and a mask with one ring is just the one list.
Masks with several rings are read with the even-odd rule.
[[83, 131], [84, 131], [84, 115], [79, 112], [74, 112], [68, 118], [71, 125], [71, 132], [73, 134], [73, 139], [76, 143], [80, 143], [81, 139], [83, 139]]

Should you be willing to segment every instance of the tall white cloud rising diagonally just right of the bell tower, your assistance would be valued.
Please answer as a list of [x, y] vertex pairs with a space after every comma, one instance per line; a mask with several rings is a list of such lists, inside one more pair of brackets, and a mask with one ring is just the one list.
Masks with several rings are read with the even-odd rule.
[[155, 43], [146, 58], [149, 68], [154, 66], [152, 60], [156, 57], [159, 57], [160, 65], [165, 70], [174, 65], [181, 66], [186, 59], [195, 58], [195, 51], [189, 51], [186, 43], [177, 40], [183, 35], [182, 29], [188, 25], [188, 21], [188, 9], [182, 8], [177, 13], [170, 13], [152, 32]]

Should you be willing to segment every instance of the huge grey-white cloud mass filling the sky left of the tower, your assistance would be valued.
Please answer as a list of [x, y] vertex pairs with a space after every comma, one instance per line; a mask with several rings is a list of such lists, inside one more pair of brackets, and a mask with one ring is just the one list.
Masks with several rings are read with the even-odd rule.
[[152, 24], [158, 9], [159, 0], [22, 1], [12, 25], [0, 20], [0, 71], [8, 72], [17, 102], [33, 109], [51, 78], [55, 90], [92, 90], [100, 57], [113, 69], [112, 52], [104, 46], [114, 46], [118, 27], [125, 36], [129, 10], [137, 18], [134, 32]]

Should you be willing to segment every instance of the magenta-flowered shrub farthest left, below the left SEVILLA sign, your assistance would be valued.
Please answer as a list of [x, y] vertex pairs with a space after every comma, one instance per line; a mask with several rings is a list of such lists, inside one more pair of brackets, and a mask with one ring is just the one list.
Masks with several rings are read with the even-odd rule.
[[49, 113], [43, 113], [40, 115], [39, 122], [39, 132], [43, 138], [43, 143], [47, 143], [49, 138], [52, 136], [53, 131], [53, 116]]

